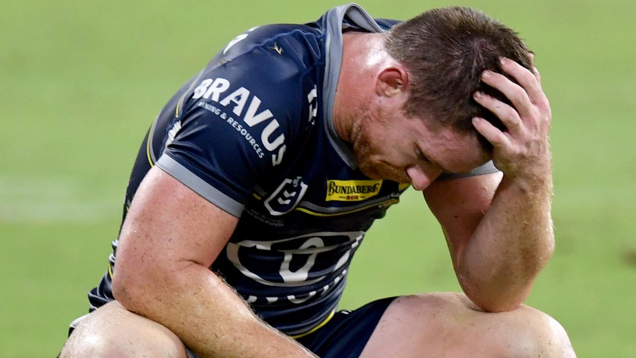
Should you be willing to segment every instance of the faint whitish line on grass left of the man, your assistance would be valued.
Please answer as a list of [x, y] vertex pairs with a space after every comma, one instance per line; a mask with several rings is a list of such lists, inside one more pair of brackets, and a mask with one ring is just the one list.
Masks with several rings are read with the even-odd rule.
[[97, 222], [119, 215], [120, 204], [121, 194], [78, 178], [0, 175], [0, 222]]

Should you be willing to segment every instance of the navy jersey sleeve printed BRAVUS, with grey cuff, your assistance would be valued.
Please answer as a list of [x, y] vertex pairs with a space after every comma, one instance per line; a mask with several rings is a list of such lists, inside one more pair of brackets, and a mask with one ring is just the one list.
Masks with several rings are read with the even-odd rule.
[[301, 140], [314, 88], [298, 39], [251, 35], [230, 41], [184, 93], [156, 162], [236, 217]]

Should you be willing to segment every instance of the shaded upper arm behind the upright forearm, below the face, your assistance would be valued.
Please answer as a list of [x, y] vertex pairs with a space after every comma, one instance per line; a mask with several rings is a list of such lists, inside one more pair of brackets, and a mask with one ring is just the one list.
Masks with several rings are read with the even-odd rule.
[[456, 262], [473, 235], [501, 182], [502, 173], [436, 180], [424, 190], [424, 198], [444, 231]]

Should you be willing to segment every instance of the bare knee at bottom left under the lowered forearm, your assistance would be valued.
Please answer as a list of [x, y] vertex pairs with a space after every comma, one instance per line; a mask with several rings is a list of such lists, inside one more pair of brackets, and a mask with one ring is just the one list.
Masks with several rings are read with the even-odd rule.
[[166, 327], [108, 303], [79, 323], [60, 358], [173, 357], [186, 358], [181, 340]]

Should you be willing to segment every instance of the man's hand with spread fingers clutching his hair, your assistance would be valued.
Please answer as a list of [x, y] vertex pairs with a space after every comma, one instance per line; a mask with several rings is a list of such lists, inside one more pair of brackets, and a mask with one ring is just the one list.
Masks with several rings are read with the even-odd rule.
[[481, 92], [476, 92], [474, 99], [497, 115], [507, 130], [502, 132], [483, 118], [474, 118], [473, 125], [494, 146], [493, 161], [504, 176], [534, 189], [551, 180], [550, 103], [541, 89], [536, 68], [531, 72], [504, 58], [501, 64], [519, 84], [488, 70], [483, 72], [481, 80], [508, 97], [513, 106]]

